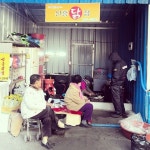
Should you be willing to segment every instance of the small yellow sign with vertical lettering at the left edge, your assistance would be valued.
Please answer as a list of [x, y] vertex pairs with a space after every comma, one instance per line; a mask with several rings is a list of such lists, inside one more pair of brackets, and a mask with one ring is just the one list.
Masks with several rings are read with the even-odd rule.
[[0, 81], [9, 79], [10, 54], [0, 53]]

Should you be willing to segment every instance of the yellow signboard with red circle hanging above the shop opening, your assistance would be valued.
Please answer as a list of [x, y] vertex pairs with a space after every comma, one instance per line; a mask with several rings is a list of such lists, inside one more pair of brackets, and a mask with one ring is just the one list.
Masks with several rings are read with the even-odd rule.
[[45, 22], [99, 22], [99, 3], [46, 4]]

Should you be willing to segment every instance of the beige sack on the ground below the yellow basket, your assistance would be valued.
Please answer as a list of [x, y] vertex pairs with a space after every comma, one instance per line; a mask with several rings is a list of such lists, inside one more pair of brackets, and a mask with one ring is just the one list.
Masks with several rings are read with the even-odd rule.
[[14, 137], [18, 136], [22, 127], [23, 118], [19, 112], [11, 112], [8, 120], [8, 132]]

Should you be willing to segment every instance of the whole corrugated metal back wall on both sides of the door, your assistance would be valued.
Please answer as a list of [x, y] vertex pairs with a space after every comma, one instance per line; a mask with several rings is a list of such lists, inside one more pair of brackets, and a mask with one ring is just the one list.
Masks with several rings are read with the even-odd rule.
[[[95, 45], [94, 68], [107, 68], [110, 52], [118, 48], [117, 29], [47, 29], [37, 30], [44, 33], [45, 50], [49, 54], [47, 73], [69, 73], [69, 60], [73, 43]], [[86, 54], [85, 54], [86, 55]], [[82, 60], [82, 55], [78, 55]], [[91, 63], [87, 62], [88, 64]]]

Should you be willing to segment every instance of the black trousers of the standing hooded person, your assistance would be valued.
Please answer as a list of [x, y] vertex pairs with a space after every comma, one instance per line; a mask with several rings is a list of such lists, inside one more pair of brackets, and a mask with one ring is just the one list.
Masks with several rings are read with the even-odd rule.
[[111, 86], [112, 102], [116, 113], [125, 114], [124, 98], [123, 98], [123, 86], [113, 85]]

